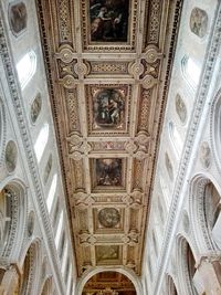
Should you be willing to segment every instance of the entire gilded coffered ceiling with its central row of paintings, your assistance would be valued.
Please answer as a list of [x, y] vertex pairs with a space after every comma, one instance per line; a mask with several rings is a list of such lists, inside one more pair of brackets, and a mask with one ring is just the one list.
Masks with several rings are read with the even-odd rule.
[[78, 275], [140, 275], [180, 2], [36, 0]]

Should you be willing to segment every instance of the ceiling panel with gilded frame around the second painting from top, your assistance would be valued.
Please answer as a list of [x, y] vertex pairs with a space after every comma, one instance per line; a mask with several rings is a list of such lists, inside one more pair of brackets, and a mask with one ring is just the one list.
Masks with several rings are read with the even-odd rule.
[[128, 135], [131, 85], [87, 85], [91, 136]]

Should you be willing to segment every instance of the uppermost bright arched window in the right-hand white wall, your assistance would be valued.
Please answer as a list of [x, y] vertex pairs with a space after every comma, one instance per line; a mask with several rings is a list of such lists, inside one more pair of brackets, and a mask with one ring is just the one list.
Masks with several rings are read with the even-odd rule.
[[181, 61], [181, 69], [188, 84], [196, 88], [200, 80], [200, 67], [191, 57], [185, 55]]

